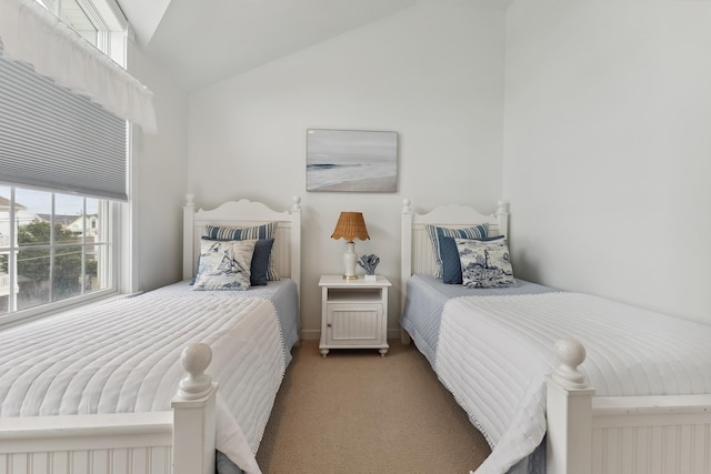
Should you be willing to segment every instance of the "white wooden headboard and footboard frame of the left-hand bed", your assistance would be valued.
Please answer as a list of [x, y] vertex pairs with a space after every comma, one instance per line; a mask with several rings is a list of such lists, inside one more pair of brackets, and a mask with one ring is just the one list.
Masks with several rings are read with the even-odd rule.
[[[240, 200], [196, 212], [192, 195], [183, 208], [183, 278], [194, 274], [200, 238], [208, 223], [249, 226], [277, 221], [274, 268], [301, 280], [301, 200], [276, 212]], [[106, 415], [0, 418], [0, 474], [214, 474], [216, 394], [204, 373], [210, 347], [186, 347], [186, 376], [172, 411]]]

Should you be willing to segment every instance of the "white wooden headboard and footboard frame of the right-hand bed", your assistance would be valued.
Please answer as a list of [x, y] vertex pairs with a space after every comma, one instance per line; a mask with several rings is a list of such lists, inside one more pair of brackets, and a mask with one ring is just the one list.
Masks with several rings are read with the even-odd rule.
[[[419, 214], [404, 200], [401, 309], [408, 279], [434, 273], [427, 224], [463, 228], [488, 222], [492, 234], [507, 235], [508, 221], [508, 205], [501, 201], [494, 214], [483, 215], [461, 205]], [[548, 474], [711, 473], [711, 394], [594, 396], [578, 370], [584, 347], [564, 339], [554, 351], [559, 365], [547, 380]]]

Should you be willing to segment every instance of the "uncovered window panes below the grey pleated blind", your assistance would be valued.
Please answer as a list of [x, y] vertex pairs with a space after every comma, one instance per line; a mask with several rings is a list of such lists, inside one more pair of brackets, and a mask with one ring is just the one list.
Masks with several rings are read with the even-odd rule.
[[110, 203], [0, 185], [0, 321], [113, 286]]

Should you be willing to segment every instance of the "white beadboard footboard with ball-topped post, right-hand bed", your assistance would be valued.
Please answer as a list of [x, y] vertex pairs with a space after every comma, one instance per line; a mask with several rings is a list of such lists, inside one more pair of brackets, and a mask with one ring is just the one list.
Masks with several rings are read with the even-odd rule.
[[548, 474], [709, 474], [711, 394], [594, 396], [584, 347], [555, 344], [548, 376]]

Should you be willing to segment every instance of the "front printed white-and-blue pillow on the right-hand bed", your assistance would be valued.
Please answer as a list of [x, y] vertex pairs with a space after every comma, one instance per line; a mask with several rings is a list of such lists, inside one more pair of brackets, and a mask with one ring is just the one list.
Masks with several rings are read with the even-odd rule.
[[505, 239], [478, 241], [454, 239], [465, 288], [515, 286]]

